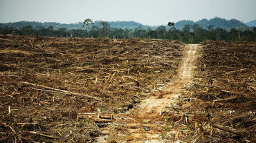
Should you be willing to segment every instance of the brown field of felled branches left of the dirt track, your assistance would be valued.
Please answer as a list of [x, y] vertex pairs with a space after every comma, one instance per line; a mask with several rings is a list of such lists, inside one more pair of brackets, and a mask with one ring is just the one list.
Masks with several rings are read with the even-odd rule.
[[77, 113], [124, 113], [176, 74], [183, 45], [0, 35], [0, 141], [89, 142]]

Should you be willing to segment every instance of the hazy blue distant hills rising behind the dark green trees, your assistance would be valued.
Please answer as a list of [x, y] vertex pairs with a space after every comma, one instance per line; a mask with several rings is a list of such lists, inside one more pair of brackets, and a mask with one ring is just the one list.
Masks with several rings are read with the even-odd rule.
[[[230, 30], [231, 28], [239, 28], [241, 30], [248, 30], [250, 29], [249, 26], [255, 26], [256, 21], [250, 21], [248, 24], [248, 26], [246, 24], [244, 24], [243, 22], [237, 20], [237, 19], [230, 19], [230, 20], [226, 20], [226, 19], [221, 19], [219, 17], [215, 17], [214, 19], [201, 19], [200, 21], [192, 21], [192, 20], [182, 20], [179, 22], [176, 22], [174, 24], [174, 26], [177, 29], [182, 30], [183, 27], [188, 24], [191, 27], [194, 26], [194, 24], [199, 24], [199, 26], [201, 26], [204, 29], [208, 29], [208, 27], [211, 25], [213, 26], [213, 28], [224, 28], [226, 30]], [[66, 28], [68, 30], [72, 30], [72, 29], [80, 29], [82, 28], [83, 23], [82, 22], [78, 22], [78, 23], [56, 23], [56, 22], [36, 22], [36, 21], [19, 21], [19, 22], [14, 22], [14, 23], [0, 23], [0, 27], [11, 27], [14, 26], [15, 28], [21, 29], [24, 26], [32, 26], [32, 28], [34, 29], [38, 29], [40, 26], [44, 27], [44, 28], [48, 28], [49, 26], [53, 26], [53, 29], [59, 29], [59, 28]], [[100, 27], [100, 21], [95, 21], [95, 26]], [[111, 26], [111, 28], [122, 28], [122, 29], [135, 29], [138, 28], [139, 26], [142, 28], [152, 28], [155, 29], [156, 26], [146, 26], [143, 25], [141, 23], [138, 22], [134, 22], [134, 21], [109, 21], [109, 25]], [[91, 26], [90, 26], [91, 27]], [[167, 27], [167, 23], [165, 25], [166, 28]]]

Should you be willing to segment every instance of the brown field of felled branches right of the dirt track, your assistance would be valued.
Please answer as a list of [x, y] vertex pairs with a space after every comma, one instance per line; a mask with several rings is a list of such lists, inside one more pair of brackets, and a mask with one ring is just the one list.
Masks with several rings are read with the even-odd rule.
[[[205, 41], [185, 101], [202, 142], [256, 142], [256, 43]], [[196, 124], [198, 124], [196, 123]]]

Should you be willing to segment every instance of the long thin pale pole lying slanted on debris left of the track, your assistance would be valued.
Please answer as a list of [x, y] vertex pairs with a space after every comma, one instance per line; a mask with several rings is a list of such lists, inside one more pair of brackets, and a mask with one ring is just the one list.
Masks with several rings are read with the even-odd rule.
[[93, 99], [102, 101], [102, 99], [100, 99], [100, 98], [98, 98], [98, 97], [92, 97], [92, 96], [89, 96], [89, 95], [84, 95], [84, 94], [80, 94], [80, 93], [69, 92], [69, 91], [66, 91], [66, 90], [61, 90], [61, 89], [57, 89], [57, 88], [51, 88], [51, 87], [48, 87], [48, 86], [42, 86], [42, 85], [38, 85], [38, 84], [32, 84], [32, 83], [29, 83], [29, 82], [21, 82], [21, 83], [22, 83], [22, 84], [29, 84], [29, 85], [33, 85], [33, 86], [39, 86], [39, 87], [42, 87], [42, 88], [48, 88], [48, 89], [51, 89], [51, 90], [57, 90], [57, 91], [60, 91], [61, 93], [68, 93], [68, 94], [71, 94], [71, 95], [84, 96], [84, 97], [89, 97], [89, 98], [93, 98]]

